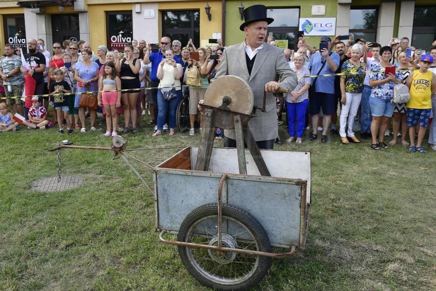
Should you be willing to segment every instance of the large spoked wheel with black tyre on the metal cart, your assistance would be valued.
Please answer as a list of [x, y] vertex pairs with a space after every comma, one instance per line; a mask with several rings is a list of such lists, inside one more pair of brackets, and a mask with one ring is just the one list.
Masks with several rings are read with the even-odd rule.
[[[177, 239], [217, 245], [216, 203], [197, 207], [185, 218]], [[222, 246], [271, 252], [265, 229], [249, 212], [230, 205], [222, 207]], [[189, 273], [200, 283], [219, 290], [247, 290], [261, 282], [271, 258], [213, 249], [179, 246], [179, 255]]]

